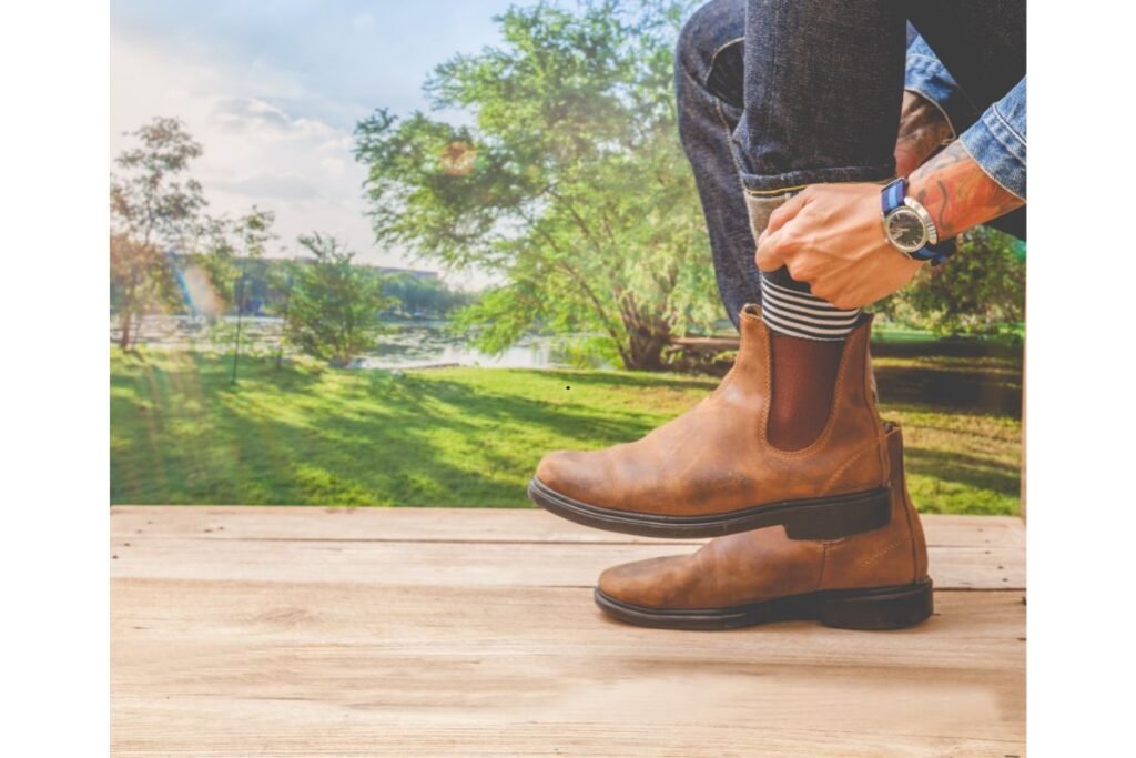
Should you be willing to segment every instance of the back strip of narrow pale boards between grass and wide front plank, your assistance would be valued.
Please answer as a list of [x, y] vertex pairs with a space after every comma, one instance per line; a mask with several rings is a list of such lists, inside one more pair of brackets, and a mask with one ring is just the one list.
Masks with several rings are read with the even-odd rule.
[[[1026, 586], [1018, 519], [924, 522], [937, 586]], [[110, 550], [115, 577], [585, 586], [613, 564], [698, 544], [598, 532], [538, 510], [124, 507], [114, 509]], [[474, 549], [476, 560], [460, 559]]]

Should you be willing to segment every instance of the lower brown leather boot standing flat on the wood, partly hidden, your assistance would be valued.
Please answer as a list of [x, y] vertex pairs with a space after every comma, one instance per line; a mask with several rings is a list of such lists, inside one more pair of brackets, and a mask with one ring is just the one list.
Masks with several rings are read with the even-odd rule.
[[788, 618], [884, 630], [930, 616], [932, 582], [919, 515], [903, 481], [903, 440], [887, 430], [891, 522], [828, 542], [783, 530], [734, 534], [690, 556], [652, 558], [603, 572], [595, 602], [620, 620], [667, 628], [725, 630]]

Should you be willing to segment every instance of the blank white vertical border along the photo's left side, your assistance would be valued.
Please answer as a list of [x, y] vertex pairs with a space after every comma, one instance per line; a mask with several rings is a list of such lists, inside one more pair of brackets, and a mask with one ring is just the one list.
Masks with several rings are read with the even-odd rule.
[[109, 751], [109, 14], [0, 20], [7, 756]]

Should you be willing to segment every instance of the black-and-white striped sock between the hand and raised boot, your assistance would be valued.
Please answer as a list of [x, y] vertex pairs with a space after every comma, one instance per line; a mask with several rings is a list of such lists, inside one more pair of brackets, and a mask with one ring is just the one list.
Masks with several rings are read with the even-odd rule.
[[770, 330], [803, 340], [840, 342], [860, 319], [860, 309], [842, 310], [790, 278], [786, 268], [761, 272], [761, 319]]

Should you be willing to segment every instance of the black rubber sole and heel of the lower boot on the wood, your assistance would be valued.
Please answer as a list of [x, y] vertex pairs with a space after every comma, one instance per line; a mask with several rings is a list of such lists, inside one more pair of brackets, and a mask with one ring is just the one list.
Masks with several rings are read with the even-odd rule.
[[926, 620], [935, 609], [929, 578], [901, 586], [827, 590], [729, 608], [665, 610], [616, 600], [595, 590], [595, 605], [628, 624], [654, 628], [720, 631], [770, 622], [815, 619], [845, 630], [895, 630]]

